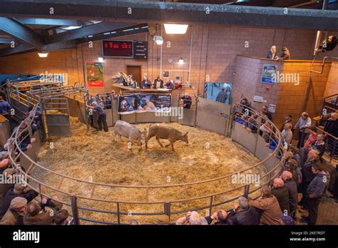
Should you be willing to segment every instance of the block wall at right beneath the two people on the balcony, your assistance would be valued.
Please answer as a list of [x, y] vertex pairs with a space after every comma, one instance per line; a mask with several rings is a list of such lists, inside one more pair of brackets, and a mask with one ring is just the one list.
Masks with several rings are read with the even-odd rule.
[[[280, 73], [295, 73], [299, 76], [297, 82], [280, 82], [273, 85], [262, 82], [262, 68], [264, 64], [277, 65]], [[247, 98], [252, 107], [260, 110], [262, 105], [275, 104], [276, 113], [273, 121], [279, 125], [283, 122], [286, 113], [291, 114], [296, 120], [302, 111], [305, 89], [309, 80], [309, 71], [321, 71], [321, 61], [271, 61], [261, 58], [237, 56], [235, 83], [233, 88], [233, 100], [238, 102], [240, 98]], [[310, 116], [319, 115], [322, 107], [322, 98], [326, 89], [331, 62], [325, 63], [323, 73], [311, 74], [311, 87], [305, 110]], [[334, 81], [332, 73], [332, 81]], [[297, 79], [297, 78], [295, 78]], [[334, 87], [334, 84], [333, 84]], [[264, 103], [253, 102], [254, 96], [262, 96]]]

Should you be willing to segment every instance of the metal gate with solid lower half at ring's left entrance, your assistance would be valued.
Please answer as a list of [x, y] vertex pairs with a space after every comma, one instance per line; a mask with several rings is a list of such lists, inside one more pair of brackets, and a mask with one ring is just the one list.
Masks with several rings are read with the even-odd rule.
[[40, 98], [44, 128], [49, 136], [71, 136], [68, 98]]

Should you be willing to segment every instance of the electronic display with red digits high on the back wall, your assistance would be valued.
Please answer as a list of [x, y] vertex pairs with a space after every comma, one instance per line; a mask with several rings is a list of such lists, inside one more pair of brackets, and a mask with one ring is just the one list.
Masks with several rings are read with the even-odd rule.
[[103, 41], [103, 56], [133, 58], [133, 41]]

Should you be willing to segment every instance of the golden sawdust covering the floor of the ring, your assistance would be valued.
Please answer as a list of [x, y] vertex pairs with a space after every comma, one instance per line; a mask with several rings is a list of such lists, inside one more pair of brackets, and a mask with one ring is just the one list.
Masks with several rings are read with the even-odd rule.
[[[113, 141], [113, 128], [108, 133], [103, 131], [86, 135], [86, 125], [79, 123], [76, 118], [71, 118], [71, 137], [51, 138], [42, 145], [39, 152], [39, 164], [54, 172], [76, 177], [86, 182], [103, 182], [116, 185], [175, 185], [185, 182], [198, 182], [215, 177], [238, 172], [255, 165], [259, 160], [240, 145], [232, 143], [230, 138], [199, 128], [193, 128], [178, 123], [163, 123], [177, 128], [182, 132], [189, 132], [189, 144], [177, 141], [175, 151], [161, 148], [152, 138], [148, 143], [148, 150], [138, 152], [136, 144], [133, 150], [128, 150], [128, 140], [122, 138]], [[138, 128], [148, 129], [149, 124], [140, 124]], [[163, 145], [168, 140], [161, 140]], [[205, 148], [205, 143], [210, 143], [210, 148]], [[144, 148], [144, 146], [143, 146]], [[245, 173], [264, 174], [262, 166]], [[186, 187], [161, 187], [161, 188], [128, 188], [106, 187], [89, 185], [85, 182], [76, 182], [51, 172], [46, 172], [39, 167], [34, 167], [32, 175], [51, 187], [63, 192], [82, 197], [93, 197], [98, 200], [116, 200], [133, 202], [173, 202], [175, 200], [211, 195], [216, 192], [225, 192], [239, 185], [233, 185], [231, 177], [200, 185]], [[252, 188], [255, 188], [253, 186]], [[42, 187], [42, 192], [48, 195], [58, 195], [58, 199], [70, 202], [68, 195], [56, 193], [48, 187]], [[258, 193], [258, 192], [256, 192]], [[217, 195], [213, 202], [224, 202], [238, 195], [242, 189], [230, 193]], [[257, 194], [256, 194], [257, 195]], [[210, 203], [210, 197], [190, 202], [173, 202], [171, 211], [190, 210]], [[83, 200], [78, 198], [78, 206], [90, 207], [97, 210], [117, 211], [116, 203]], [[217, 209], [230, 209], [231, 204], [220, 205]], [[212, 211], [217, 210], [215, 208]], [[121, 203], [119, 210], [128, 215], [121, 216], [121, 222], [138, 219], [139, 222], [153, 223], [154, 217], [133, 216], [135, 212], [154, 212], [160, 215], [163, 204], [133, 204]], [[201, 215], [208, 215], [208, 210], [201, 210]], [[184, 214], [173, 215], [172, 220]], [[107, 222], [116, 222], [116, 215], [108, 213], [89, 212], [80, 210], [80, 216]], [[86, 222], [82, 222], [86, 224]]]

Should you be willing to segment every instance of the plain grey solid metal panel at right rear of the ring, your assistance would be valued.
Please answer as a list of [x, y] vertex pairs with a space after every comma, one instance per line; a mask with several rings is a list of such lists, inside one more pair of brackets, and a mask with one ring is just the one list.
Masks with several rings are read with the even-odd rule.
[[231, 105], [198, 98], [196, 125], [200, 128], [228, 135]]

